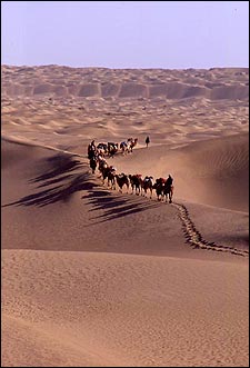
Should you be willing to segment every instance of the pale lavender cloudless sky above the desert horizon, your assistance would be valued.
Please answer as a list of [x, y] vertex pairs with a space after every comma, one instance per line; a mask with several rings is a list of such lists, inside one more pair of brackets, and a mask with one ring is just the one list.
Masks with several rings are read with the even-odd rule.
[[1, 64], [249, 67], [249, 1], [1, 1]]

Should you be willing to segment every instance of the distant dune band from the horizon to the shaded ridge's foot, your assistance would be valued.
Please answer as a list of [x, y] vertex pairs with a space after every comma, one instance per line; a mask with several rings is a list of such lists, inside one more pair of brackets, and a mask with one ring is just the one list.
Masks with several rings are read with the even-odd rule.
[[[57, 74], [57, 78], [54, 78]], [[6, 96], [116, 97], [211, 100], [247, 99], [248, 69], [161, 70], [7, 67], [2, 66], [2, 93]], [[14, 81], [14, 79], [17, 81]], [[36, 82], [39, 79], [40, 82]], [[220, 82], [212, 82], [219, 79]]]

